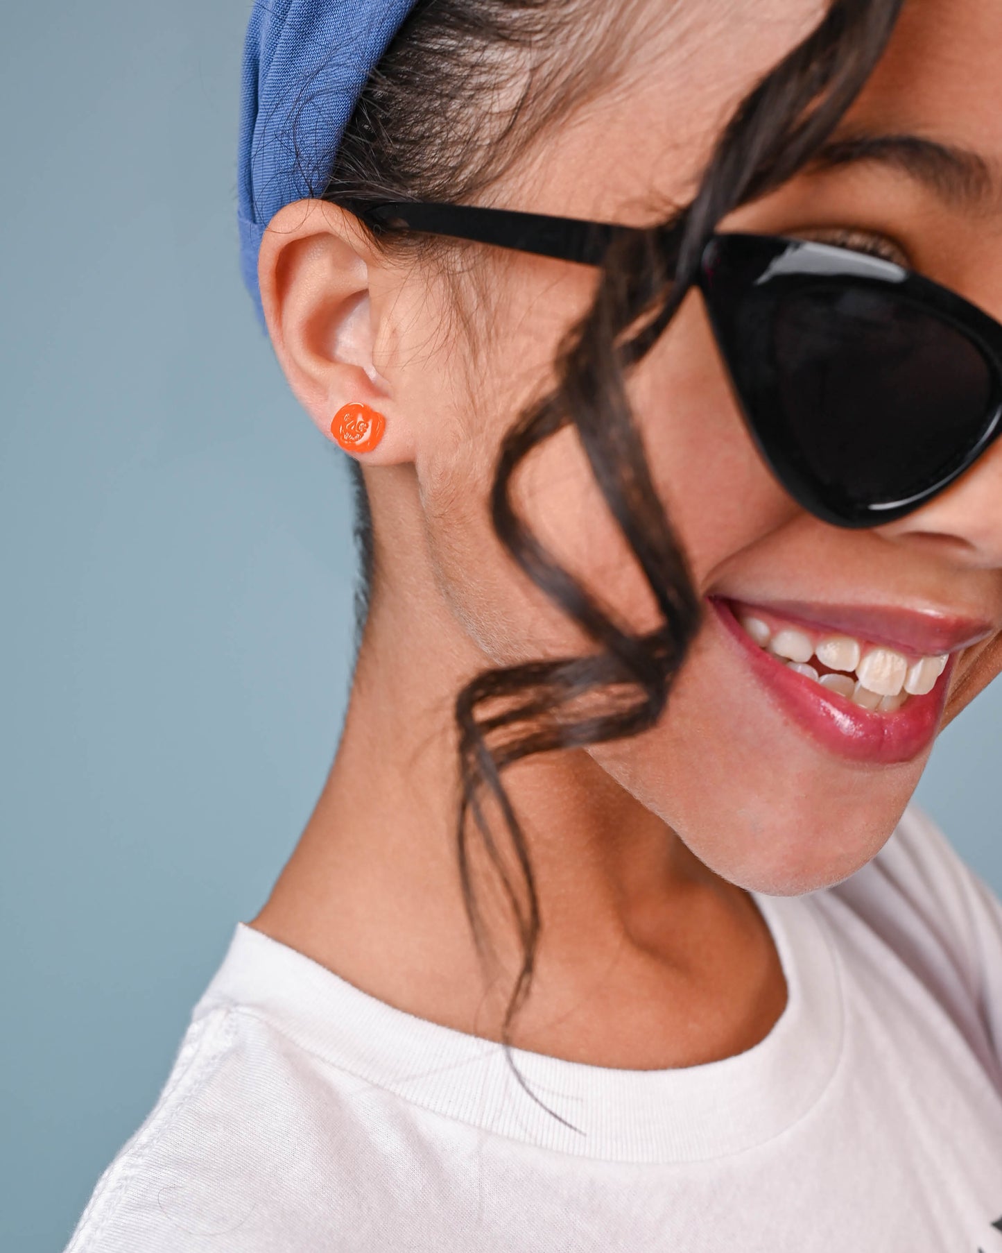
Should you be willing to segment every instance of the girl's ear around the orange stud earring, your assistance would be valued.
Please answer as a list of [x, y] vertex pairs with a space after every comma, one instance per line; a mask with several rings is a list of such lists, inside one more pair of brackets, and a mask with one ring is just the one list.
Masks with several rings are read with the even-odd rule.
[[[321, 431], [343, 405], [361, 401], [386, 419], [369, 465], [413, 460], [410, 422], [373, 365], [378, 313], [371, 279], [378, 253], [351, 213], [326, 200], [296, 200], [272, 218], [258, 256], [264, 318], [289, 386]], [[378, 303], [378, 307], [377, 307]]]

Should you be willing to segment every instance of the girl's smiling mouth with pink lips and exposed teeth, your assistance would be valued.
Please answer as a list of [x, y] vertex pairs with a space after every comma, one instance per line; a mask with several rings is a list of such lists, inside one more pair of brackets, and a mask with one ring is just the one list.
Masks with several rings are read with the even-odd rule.
[[[708, 599], [774, 707], [828, 752], [874, 764], [912, 761], [931, 744], [957, 654], [984, 634], [983, 624], [897, 610], [830, 609], [822, 625], [810, 606]], [[868, 623], [884, 638], [860, 632]]]

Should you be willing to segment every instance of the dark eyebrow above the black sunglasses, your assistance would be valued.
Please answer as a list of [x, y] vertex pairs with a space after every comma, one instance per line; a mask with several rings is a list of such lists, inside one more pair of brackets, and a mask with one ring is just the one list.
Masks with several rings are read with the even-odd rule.
[[859, 162], [894, 167], [948, 204], [982, 208], [1002, 199], [996, 174], [978, 153], [909, 134], [849, 134], [827, 143], [810, 160], [812, 170]]

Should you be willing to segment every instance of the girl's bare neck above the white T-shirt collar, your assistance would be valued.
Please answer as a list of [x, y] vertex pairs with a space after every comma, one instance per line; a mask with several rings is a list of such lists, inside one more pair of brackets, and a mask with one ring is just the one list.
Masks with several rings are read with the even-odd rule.
[[[495, 950], [473, 942], [456, 857], [456, 693], [488, 664], [433, 595], [378, 594], [327, 784], [254, 926], [363, 991], [487, 1039], [505, 1034], [521, 952], [473, 858]], [[402, 624], [401, 619], [406, 619]], [[750, 898], [584, 751], [510, 771], [544, 920], [507, 1037], [595, 1065], [660, 1069], [741, 1051], [785, 1000]], [[492, 829], [505, 848], [500, 821]], [[473, 836], [476, 847], [476, 836]]]

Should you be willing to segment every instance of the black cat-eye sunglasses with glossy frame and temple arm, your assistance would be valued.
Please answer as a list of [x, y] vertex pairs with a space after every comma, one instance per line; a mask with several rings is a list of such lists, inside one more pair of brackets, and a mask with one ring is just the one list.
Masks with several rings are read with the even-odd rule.
[[[366, 209], [373, 229], [599, 266], [631, 227], [475, 205]], [[1002, 431], [1002, 325], [902, 266], [777, 236], [716, 234], [698, 286], [745, 424], [804, 509], [835, 526], [912, 512]]]

